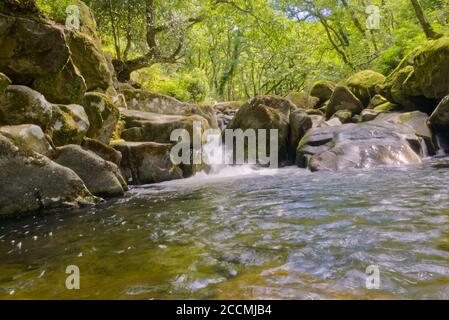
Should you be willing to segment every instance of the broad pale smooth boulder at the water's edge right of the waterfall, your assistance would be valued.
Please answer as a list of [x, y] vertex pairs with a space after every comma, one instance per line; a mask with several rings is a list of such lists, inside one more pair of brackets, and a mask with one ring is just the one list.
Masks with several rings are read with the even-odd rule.
[[369, 169], [420, 163], [426, 152], [410, 126], [376, 119], [311, 129], [298, 146], [297, 164], [312, 171]]

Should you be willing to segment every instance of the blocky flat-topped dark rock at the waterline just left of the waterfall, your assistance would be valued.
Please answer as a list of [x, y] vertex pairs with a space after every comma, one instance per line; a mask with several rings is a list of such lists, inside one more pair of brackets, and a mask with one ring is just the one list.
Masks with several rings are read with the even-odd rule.
[[114, 142], [121, 152], [121, 170], [129, 184], [149, 184], [182, 179], [182, 170], [170, 158], [170, 144]]

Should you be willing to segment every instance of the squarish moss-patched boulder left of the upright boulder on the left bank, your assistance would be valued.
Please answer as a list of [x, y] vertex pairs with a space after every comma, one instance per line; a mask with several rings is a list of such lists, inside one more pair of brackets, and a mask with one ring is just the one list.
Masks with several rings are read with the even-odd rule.
[[82, 106], [53, 105], [51, 132], [53, 143], [60, 147], [80, 144], [89, 130], [89, 118]]

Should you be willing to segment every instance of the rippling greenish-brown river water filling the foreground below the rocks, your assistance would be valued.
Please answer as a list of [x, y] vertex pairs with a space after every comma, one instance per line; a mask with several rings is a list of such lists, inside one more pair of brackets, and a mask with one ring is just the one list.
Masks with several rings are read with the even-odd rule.
[[[448, 181], [448, 159], [228, 168], [2, 221], [0, 299], [449, 299]], [[66, 289], [69, 265], [80, 290]]]

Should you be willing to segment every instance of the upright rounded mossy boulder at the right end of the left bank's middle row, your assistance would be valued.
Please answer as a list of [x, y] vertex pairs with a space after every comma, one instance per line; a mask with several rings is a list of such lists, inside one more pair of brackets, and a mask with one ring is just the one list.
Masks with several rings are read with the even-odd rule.
[[87, 136], [109, 144], [120, 119], [120, 111], [105, 94], [89, 92], [84, 97], [84, 110], [89, 118]]

